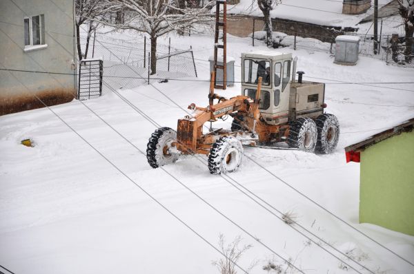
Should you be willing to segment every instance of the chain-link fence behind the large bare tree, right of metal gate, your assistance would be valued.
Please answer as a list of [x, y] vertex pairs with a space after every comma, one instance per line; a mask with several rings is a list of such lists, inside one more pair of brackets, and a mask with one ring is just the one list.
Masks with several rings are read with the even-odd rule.
[[[149, 40], [149, 39], [148, 39]], [[91, 39], [88, 57], [103, 60], [103, 78], [116, 89], [132, 88], [168, 78], [197, 76], [193, 49], [157, 44], [156, 74], [150, 71], [150, 43], [132, 43], [110, 36]]]

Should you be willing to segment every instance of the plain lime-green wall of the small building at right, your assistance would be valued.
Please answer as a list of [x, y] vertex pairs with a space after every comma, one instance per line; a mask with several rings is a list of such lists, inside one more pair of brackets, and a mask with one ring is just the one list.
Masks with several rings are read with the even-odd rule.
[[361, 152], [359, 222], [414, 235], [414, 131]]

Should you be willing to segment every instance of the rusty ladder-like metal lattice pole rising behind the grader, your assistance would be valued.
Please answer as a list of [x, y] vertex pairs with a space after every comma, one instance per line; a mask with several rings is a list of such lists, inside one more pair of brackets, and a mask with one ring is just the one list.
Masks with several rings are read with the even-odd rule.
[[[220, 5], [223, 5], [223, 21], [220, 21]], [[217, 0], [216, 1], [216, 19], [215, 19], [215, 36], [214, 36], [214, 87], [217, 89], [226, 89], [227, 85], [227, 60], [226, 60], [226, 24], [227, 24], [227, 5], [226, 0]], [[219, 32], [220, 27], [223, 30], [223, 44], [219, 45]], [[223, 60], [222, 65], [217, 65], [217, 51], [219, 49], [223, 50]], [[217, 69], [223, 70], [223, 83], [222, 85], [217, 85]]]

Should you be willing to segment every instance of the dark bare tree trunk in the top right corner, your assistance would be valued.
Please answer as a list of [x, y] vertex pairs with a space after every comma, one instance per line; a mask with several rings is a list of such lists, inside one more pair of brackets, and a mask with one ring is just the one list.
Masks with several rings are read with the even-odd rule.
[[406, 62], [413, 59], [413, 35], [414, 35], [414, 0], [397, 0], [400, 15], [404, 22], [406, 32], [406, 50], [404, 52]]

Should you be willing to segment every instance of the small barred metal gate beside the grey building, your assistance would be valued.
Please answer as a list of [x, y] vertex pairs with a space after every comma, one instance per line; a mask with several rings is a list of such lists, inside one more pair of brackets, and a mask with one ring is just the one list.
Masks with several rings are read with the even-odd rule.
[[81, 60], [79, 65], [78, 99], [86, 100], [102, 95], [103, 61], [100, 59]]

